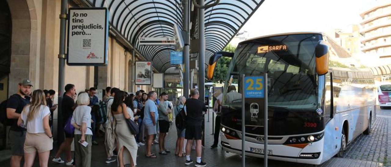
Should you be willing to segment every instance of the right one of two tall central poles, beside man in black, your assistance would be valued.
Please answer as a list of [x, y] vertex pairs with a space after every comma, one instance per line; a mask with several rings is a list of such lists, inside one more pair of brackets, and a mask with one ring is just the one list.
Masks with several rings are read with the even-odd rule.
[[[204, 0], [199, 0], [198, 4], [203, 6]], [[205, 9], [198, 9], [198, 39], [199, 39], [199, 52], [198, 52], [198, 90], [199, 100], [205, 101]], [[208, 102], [207, 102], [207, 104]], [[206, 111], [208, 113], [208, 111]], [[208, 114], [209, 115], [209, 114]], [[203, 121], [203, 127], [205, 127], [205, 121]], [[205, 128], [203, 128], [203, 140], [202, 145], [205, 146]]]

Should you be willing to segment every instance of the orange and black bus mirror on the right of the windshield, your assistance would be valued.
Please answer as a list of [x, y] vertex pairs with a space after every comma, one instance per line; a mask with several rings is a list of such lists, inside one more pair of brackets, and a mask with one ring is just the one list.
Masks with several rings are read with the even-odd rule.
[[315, 64], [317, 75], [325, 75], [328, 71], [328, 45], [320, 40], [315, 47]]

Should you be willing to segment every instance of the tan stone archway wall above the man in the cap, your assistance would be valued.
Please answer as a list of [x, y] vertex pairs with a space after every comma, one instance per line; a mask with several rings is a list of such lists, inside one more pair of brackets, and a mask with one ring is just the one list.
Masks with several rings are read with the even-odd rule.
[[8, 95], [14, 94], [23, 78], [30, 78], [38, 87], [36, 70], [38, 20], [34, 0], [7, 0], [12, 22], [11, 68]]

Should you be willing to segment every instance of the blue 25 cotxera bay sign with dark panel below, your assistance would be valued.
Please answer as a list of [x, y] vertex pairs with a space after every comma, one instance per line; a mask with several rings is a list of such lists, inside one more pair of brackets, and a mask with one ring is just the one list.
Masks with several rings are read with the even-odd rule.
[[244, 108], [246, 126], [264, 126], [264, 76], [244, 77]]

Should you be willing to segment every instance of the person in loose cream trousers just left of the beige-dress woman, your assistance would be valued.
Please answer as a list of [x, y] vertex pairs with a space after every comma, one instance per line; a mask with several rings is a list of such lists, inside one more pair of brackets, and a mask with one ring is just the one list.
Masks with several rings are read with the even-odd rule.
[[106, 128], [104, 130], [104, 145], [106, 148], [106, 163], [111, 163], [115, 162], [117, 158], [114, 158], [114, 153], [113, 151], [116, 148], [117, 142], [115, 142], [116, 136], [115, 136], [115, 126], [116, 123], [113, 118], [113, 114], [111, 113], [111, 105], [113, 104], [114, 101], [114, 96], [117, 92], [119, 92], [120, 89], [113, 87], [111, 88], [111, 94], [110, 97], [106, 101], [106, 116], [107, 116], [107, 121], [106, 121]]

